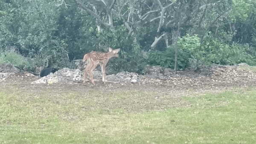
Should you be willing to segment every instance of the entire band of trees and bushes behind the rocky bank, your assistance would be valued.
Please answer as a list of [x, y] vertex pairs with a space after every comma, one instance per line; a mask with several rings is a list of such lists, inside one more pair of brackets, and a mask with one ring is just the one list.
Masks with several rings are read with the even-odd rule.
[[121, 48], [113, 70], [256, 62], [255, 0], [1, 0], [0, 63], [70, 66]]

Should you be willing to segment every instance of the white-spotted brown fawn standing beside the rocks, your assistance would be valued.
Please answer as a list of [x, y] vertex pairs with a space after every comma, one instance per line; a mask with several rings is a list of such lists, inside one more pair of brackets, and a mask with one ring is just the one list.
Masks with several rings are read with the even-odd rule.
[[101, 71], [102, 71], [102, 81], [106, 82], [105, 79], [105, 69], [106, 69], [106, 65], [108, 63], [108, 60], [116, 57], [118, 58], [118, 52], [120, 51], [120, 49], [112, 49], [112, 48], [108, 48], [109, 52], [90, 52], [84, 55], [83, 61], [87, 60], [87, 66], [84, 70], [84, 83], [85, 80], [87, 80], [87, 73], [89, 73], [90, 76], [90, 81], [93, 85], [95, 85], [94, 81], [93, 81], [93, 70], [96, 68], [96, 66], [98, 66], [98, 64], [101, 67]]

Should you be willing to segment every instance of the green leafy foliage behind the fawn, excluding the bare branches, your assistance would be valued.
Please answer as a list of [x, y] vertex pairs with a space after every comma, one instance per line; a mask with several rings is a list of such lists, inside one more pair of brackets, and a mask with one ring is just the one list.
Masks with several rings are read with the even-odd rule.
[[[129, 5], [122, 6], [124, 2], [120, 1], [113, 9], [121, 5], [121, 11], [126, 11], [135, 3], [139, 2], [131, 1]], [[152, 14], [147, 16], [152, 22], [146, 24], [147, 19], [136, 22], [136, 14], [130, 17], [134, 24], [130, 20], [124, 22], [128, 18], [125, 14], [124, 19], [121, 15], [116, 17], [113, 14], [114, 26], [108, 29], [90, 13], [81, 11], [74, 0], [65, 0], [65, 4], [63, 0], [0, 0], [0, 48], [5, 52], [13, 47], [26, 58], [41, 60], [36, 64], [21, 64], [24, 68], [27, 66], [26, 69], [33, 69], [35, 65], [70, 67], [71, 60], [81, 59], [91, 51], [106, 52], [108, 46], [121, 48], [120, 58], [110, 60], [110, 73], [143, 73], [146, 64], [174, 67], [174, 45], [166, 48], [162, 39], [155, 49], [150, 47], [155, 36], [163, 32], [168, 32], [168, 39], [171, 39], [175, 30], [171, 24], [156, 34], [159, 22]], [[143, 9], [144, 4], [150, 5], [151, 2], [143, 0], [140, 7], [134, 8], [145, 14], [148, 9]], [[232, 9], [223, 14], [230, 6]], [[212, 4], [201, 6], [197, 17], [187, 17], [188, 21], [196, 24], [184, 23], [180, 27], [181, 38], [176, 45], [178, 69], [191, 66], [200, 68], [212, 63], [233, 65], [245, 62], [255, 65], [255, 6], [253, 0], [213, 1]], [[107, 22], [105, 8], [98, 10], [99, 17]], [[172, 14], [166, 12], [166, 16], [168, 20]], [[134, 26], [132, 35], [128, 35], [126, 24]], [[101, 26], [101, 32], [97, 31], [96, 25]], [[145, 58], [143, 52], [149, 50], [148, 58]]]

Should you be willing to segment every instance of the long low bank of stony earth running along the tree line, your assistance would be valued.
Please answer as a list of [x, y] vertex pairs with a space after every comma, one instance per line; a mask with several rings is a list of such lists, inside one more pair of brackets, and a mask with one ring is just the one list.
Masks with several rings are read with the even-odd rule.
[[[8, 64], [0, 65], [0, 81], [8, 81], [16, 76], [31, 84], [79, 84], [83, 82], [83, 72], [79, 69], [60, 69], [54, 74], [38, 78], [29, 73], [21, 73]], [[5, 69], [5, 70], [3, 70]], [[11, 70], [12, 69], [12, 70]], [[133, 72], [119, 72], [116, 75], [107, 75], [106, 79], [115, 84], [160, 85], [168, 88], [214, 88], [227, 86], [250, 86], [256, 84], [256, 70], [253, 66], [241, 64], [237, 66], [212, 65], [207, 72], [177, 71], [160, 66], [147, 66], [145, 75]], [[99, 70], [93, 72], [97, 84], [102, 83], [102, 74]], [[18, 81], [15, 79], [15, 81]], [[87, 82], [90, 84], [90, 82]]]

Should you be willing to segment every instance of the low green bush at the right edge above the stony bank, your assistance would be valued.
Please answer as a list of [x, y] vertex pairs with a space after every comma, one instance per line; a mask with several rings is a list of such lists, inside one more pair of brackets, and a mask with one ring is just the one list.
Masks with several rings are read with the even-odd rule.
[[199, 55], [195, 57], [204, 64], [234, 65], [248, 63], [254, 65], [255, 57], [250, 55], [248, 45], [233, 43], [225, 44], [211, 35], [205, 37], [198, 49]]

